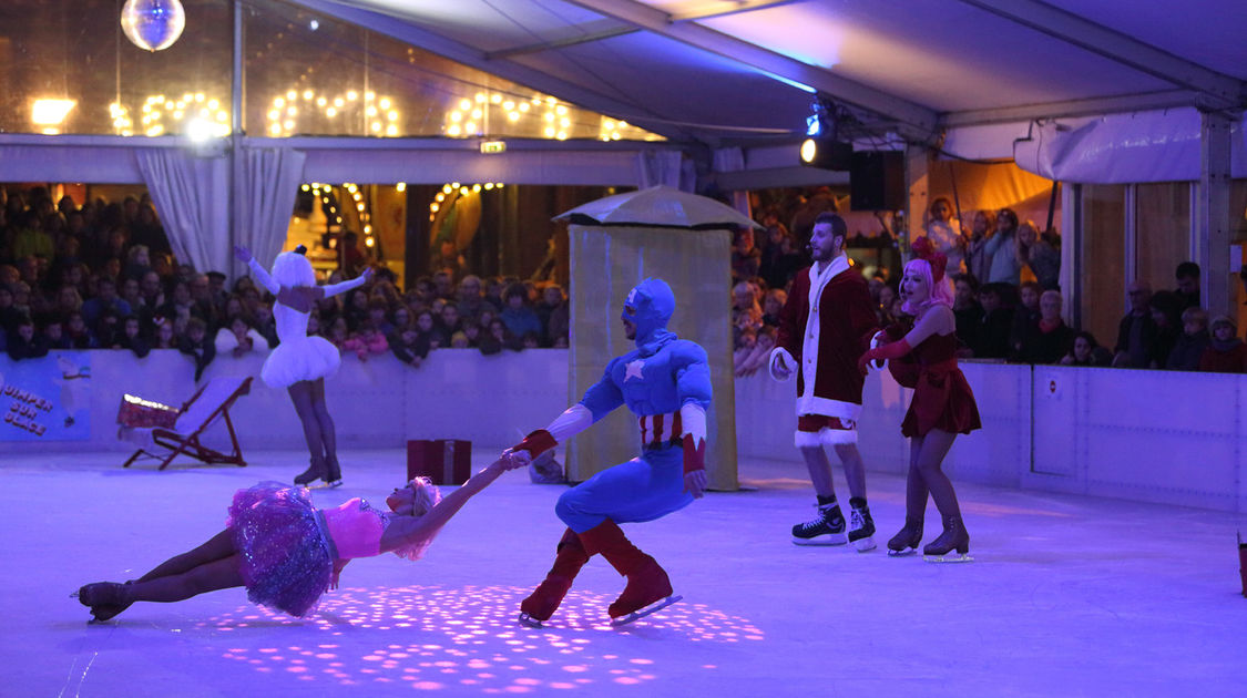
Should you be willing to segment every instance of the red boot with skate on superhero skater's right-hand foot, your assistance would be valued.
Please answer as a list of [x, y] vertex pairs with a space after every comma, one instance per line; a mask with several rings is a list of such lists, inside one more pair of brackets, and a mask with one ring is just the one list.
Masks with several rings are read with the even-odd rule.
[[672, 595], [671, 580], [662, 567], [628, 542], [610, 519], [581, 533], [580, 540], [589, 555], [600, 552], [615, 571], [627, 577], [624, 593], [607, 608], [612, 626], [631, 623], [683, 598]]

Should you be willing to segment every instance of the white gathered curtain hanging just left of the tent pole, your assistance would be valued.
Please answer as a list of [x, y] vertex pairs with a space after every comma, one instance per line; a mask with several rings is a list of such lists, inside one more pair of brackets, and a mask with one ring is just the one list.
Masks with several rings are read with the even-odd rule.
[[176, 148], [138, 148], [143, 176], [178, 262], [201, 272], [228, 269], [228, 163]]

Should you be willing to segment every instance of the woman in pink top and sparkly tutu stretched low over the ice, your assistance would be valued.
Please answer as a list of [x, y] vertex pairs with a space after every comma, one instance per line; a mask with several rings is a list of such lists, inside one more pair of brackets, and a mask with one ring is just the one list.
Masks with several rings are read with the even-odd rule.
[[419, 560], [473, 495], [515, 467], [511, 459], [496, 460], [445, 499], [418, 477], [385, 497], [388, 512], [359, 497], [320, 510], [304, 487], [261, 482], [234, 494], [226, 530], [208, 542], [137, 580], [86, 585], [77, 597], [106, 621], [136, 601], [167, 603], [244, 586], [252, 602], [303, 617], [357, 557], [393, 552]]

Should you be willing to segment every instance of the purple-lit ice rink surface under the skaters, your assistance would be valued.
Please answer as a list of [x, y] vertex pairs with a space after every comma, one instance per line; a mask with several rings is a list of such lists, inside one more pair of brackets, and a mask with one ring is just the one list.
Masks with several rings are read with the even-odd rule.
[[[605, 610], [624, 580], [600, 558], [549, 628], [515, 622], [564, 528], [564, 487], [522, 471], [469, 502], [424, 560], [352, 562], [309, 618], [226, 590], [87, 624], [79, 586], [203, 542], [234, 490], [306, 465], [246, 455], [248, 467], [165, 472], [122, 470], [121, 452], [5, 456], [0, 694], [1247, 696], [1247, 517], [954, 480], [975, 562], [932, 565], [883, 552], [904, 482], [879, 474], [879, 550], [792, 545], [813, 496], [783, 461], [742, 462], [749, 491], [625, 526], [685, 601], [621, 629]], [[342, 462], [345, 486], [315, 491], [318, 505], [382, 505], [404, 479], [398, 450]], [[837, 484], [847, 500], [838, 471]], [[932, 505], [925, 540], [938, 532]]]

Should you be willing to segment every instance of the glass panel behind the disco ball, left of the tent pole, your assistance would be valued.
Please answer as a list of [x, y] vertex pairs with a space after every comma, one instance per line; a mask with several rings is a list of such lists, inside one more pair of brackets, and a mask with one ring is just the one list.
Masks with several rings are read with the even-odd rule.
[[147, 51], [121, 32], [120, 2], [0, 2], [0, 131], [228, 133], [231, 4], [183, 6], [177, 41]]

